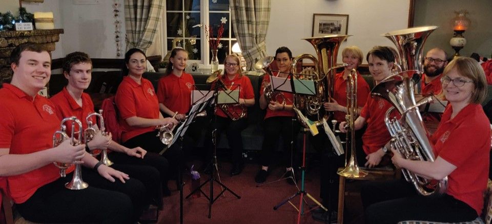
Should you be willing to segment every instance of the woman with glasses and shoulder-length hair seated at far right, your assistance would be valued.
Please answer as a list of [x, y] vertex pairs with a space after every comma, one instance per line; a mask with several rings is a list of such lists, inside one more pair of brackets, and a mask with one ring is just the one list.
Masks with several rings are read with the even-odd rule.
[[446, 66], [441, 82], [449, 105], [430, 137], [435, 161], [407, 160], [395, 150], [392, 161], [430, 179], [447, 176], [446, 192], [421, 196], [405, 180], [367, 182], [361, 191], [365, 223], [465, 222], [481, 215], [490, 151], [490, 126], [480, 105], [487, 91], [485, 74], [474, 59], [458, 57]]

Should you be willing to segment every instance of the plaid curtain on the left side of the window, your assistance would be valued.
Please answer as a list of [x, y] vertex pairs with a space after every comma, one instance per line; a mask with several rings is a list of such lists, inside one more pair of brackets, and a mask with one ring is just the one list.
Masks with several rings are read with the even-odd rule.
[[127, 50], [150, 47], [162, 11], [162, 0], [125, 0]]

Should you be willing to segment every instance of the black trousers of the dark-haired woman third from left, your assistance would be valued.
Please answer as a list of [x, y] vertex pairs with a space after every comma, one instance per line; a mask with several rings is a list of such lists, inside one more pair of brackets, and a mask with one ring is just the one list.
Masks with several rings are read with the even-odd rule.
[[[166, 145], [162, 144], [159, 137], [156, 136], [157, 133], [158, 131], [152, 131], [135, 136], [125, 141], [122, 145], [130, 149], [135, 147], [141, 147], [142, 149], [145, 149], [148, 152], [160, 153], [166, 147]], [[167, 177], [165, 177], [165, 181], [168, 180], [169, 178], [175, 178], [175, 179], [178, 178], [177, 175], [178, 167], [181, 166], [181, 162], [183, 158], [183, 154], [181, 152], [181, 144], [182, 144], [181, 140], [179, 139], [176, 140], [176, 142], [169, 149], [167, 149], [166, 152], [162, 154], [162, 156], [167, 159], [169, 164], [168, 165], [169, 172]], [[155, 157], [150, 157], [150, 158], [156, 159]], [[162, 159], [160, 159], [160, 162], [162, 162], [162, 164], [165, 163], [164, 160]], [[158, 166], [158, 163], [159, 161], [156, 160], [150, 162], [150, 164], [152, 164], [151, 166]], [[163, 167], [160, 168], [156, 167], [156, 168], [159, 170], [159, 172], [164, 170]], [[161, 178], [163, 177], [161, 176]]]

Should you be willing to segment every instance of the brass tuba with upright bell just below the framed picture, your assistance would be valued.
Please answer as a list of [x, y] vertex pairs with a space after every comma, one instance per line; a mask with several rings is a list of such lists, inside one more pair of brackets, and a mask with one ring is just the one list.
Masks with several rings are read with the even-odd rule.
[[[330, 101], [333, 96], [335, 83], [335, 69], [343, 67], [337, 64], [337, 54], [340, 44], [350, 35], [327, 35], [322, 37], [305, 38], [313, 45], [317, 58], [311, 54], [301, 54], [294, 58], [292, 71], [297, 73], [297, 63], [302, 59], [310, 59], [314, 63], [313, 74], [297, 75], [298, 79], [314, 80], [316, 95], [299, 95], [294, 97], [294, 106], [301, 112], [313, 117], [316, 125], [321, 125], [323, 117], [329, 116], [320, 110], [324, 102]], [[326, 118], [326, 120], [328, 120]]]

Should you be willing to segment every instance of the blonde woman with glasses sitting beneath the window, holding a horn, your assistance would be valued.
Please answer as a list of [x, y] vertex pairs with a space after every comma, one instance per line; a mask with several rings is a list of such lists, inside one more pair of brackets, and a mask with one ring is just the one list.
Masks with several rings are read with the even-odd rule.
[[[242, 172], [244, 161], [242, 159], [242, 137], [241, 131], [244, 130], [248, 123], [246, 114], [240, 116], [241, 113], [246, 113], [246, 107], [251, 107], [255, 104], [255, 94], [251, 80], [242, 74], [239, 66], [239, 57], [235, 54], [226, 56], [224, 60], [224, 74], [220, 75], [212, 85], [212, 89], [219, 85], [219, 90], [239, 90], [239, 103], [235, 105], [227, 105], [227, 108], [222, 108], [217, 105], [215, 110], [215, 118], [212, 119], [212, 130], [210, 131], [210, 141], [207, 141], [208, 154], [211, 156], [213, 146], [213, 132], [216, 136], [216, 144], [219, 144], [220, 134], [226, 131], [229, 147], [232, 150], [232, 170], [231, 175], [238, 175]], [[220, 82], [221, 84], [217, 84]], [[224, 113], [226, 111], [226, 113]], [[215, 130], [215, 131], [214, 131]]]

